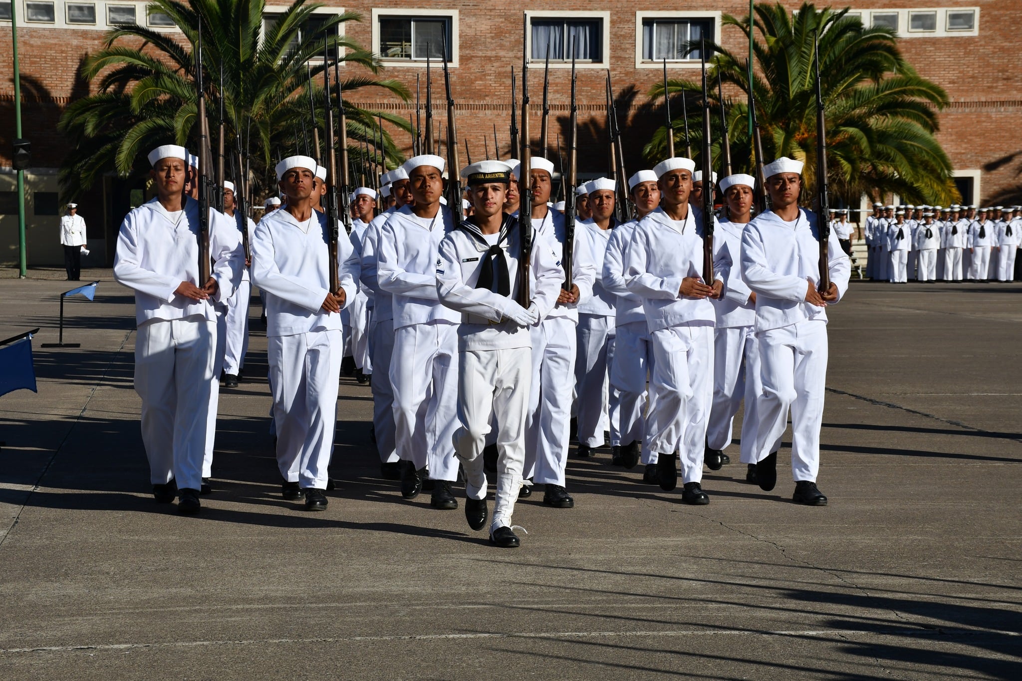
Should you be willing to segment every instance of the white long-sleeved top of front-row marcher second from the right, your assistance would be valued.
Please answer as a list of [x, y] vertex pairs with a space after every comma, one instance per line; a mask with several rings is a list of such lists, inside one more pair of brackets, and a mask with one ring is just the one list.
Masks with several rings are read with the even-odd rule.
[[[716, 322], [709, 298], [680, 294], [683, 279], [702, 277], [702, 263], [703, 240], [691, 209], [684, 221], [671, 220], [662, 208], [639, 221], [624, 252], [624, 281], [629, 291], [642, 297], [650, 332]], [[724, 273], [714, 270], [723, 281]]]

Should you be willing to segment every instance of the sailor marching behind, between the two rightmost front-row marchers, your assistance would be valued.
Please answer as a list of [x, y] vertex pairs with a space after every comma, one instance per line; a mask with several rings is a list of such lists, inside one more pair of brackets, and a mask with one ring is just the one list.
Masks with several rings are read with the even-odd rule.
[[[755, 178], [732, 175], [721, 181], [727, 216], [713, 233], [714, 259], [722, 259], [722, 249], [737, 261], [742, 250], [742, 232], [751, 220]], [[706, 429], [705, 464], [716, 471], [721, 455], [731, 444], [732, 425], [738, 407], [745, 400], [742, 415], [741, 461], [746, 465], [746, 480], [755, 482], [755, 439], [758, 417], [756, 401], [762, 392], [759, 379], [759, 345], [756, 343], [756, 294], [745, 282], [738, 267], [731, 267], [724, 282], [724, 297], [714, 301], [716, 328], [713, 331], [713, 402]]]

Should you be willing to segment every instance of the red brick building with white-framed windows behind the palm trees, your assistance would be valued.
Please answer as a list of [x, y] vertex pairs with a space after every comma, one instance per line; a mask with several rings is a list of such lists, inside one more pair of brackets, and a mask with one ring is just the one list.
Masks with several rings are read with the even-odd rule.
[[[156, 30], [160, 17], [147, 17], [144, 1], [133, 0], [14, 0], [18, 10], [24, 137], [33, 144], [34, 168], [28, 174], [27, 216], [30, 264], [60, 261], [55, 214], [56, 168], [66, 141], [56, 131], [63, 107], [88, 93], [79, 77], [83, 58], [97, 49], [104, 34], [118, 21], [132, 16]], [[642, 146], [653, 128], [661, 125], [648, 105], [645, 93], [661, 78], [662, 54], [679, 41], [701, 32], [729, 49], [744, 52], [740, 31], [722, 30], [721, 17], [748, 11], [742, 0], [693, 0], [678, 8], [637, 10], [634, 3], [615, 1], [557, 3], [527, 2], [528, 40], [537, 63], [529, 69], [533, 104], [542, 95], [541, 45], [549, 43], [552, 55], [550, 145], [567, 123], [570, 87], [568, 64], [558, 59], [573, 37], [584, 59], [578, 63], [579, 172], [583, 177], [602, 174], [607, 165], [604, 145], [598, 140], [605, 126], [605, 75], [609, 68], [619, 117], [625, 126], [625, 161], [630, 172], [644, 165]], [[797, 2], [785, 0], [792, 8]], [[1022, 201], [1022, 71], [1010, 46], [1019, 44], [1022, 15], [1016, 0], [942, 0], [934, 7], [922, 0], [862, 0], [850, 3], [867, 25], [892, 26], [903, 38], [899, 47], [925, 78], [941, 85], [951, 104], [940, 113], [938, 139], [955, 166], [965, 199], [976, 203]], [[843, 3], [842, 3], [843, 6]], [[268, 5], [267, 13], [286, 5]], [[553, 8], [553, 9], [552, 9]], [[492, 148], [494, 130], [507, 155], [510, 117], [511, 66], [520, 70], [522, 50], [521, 3], [510, 5], [474, 0], [407, 2], [341, 2], [325, 0], [319, 12], [356, 11], [361, 21], [347, 22], [347, 36], [383, 56], [383, 76], [415, 89], [416, 76], [425, 83], [426, 44], [439, 56], [442, 31], [450, 38], [449, 61], [462, 157], [468, 141], [473, 159], [483, 156], [483, 137]], [[0, 54], [11, 54], [10, 3], [0, 0]], [[268, 17], [272, 20], [272, 16]], [[7, 20], [5, 20], [7, 19]], [[91, 22], [90, 22], [91, 21]], [[559, 51], [559, 53], [557, 53]], [[355, 67], [352, 67], [355, 68]], [[698, 61], [670, 60], [671, 78], [698, 76]], [[438, 86], [438, 87], [437, 87]], [[355, 94], [355, 93], [353, 93]], [[414, 101], [401, 102], [381, 90], [365, 89], [357, 101], [414, 116]], [[440, 70], [434, 71], [433, 104], [443, 124], [445, 102]], [[538, 112], [538, 109], [536, 109]], [[439, 125], [438, 127], [442, 127]], [[532, 137], [540, 132], [539, 115], [531, 123]], [[446, 134], [446, 133], [445, 133]], [[10, 214], [13, 175], [10, 171], [13, 137], [13, 85], [9, 56], [0, 62], [0, 263], [17, 257], [16, 215]], [[398, 133], [406, 153], [411, 140]], [[493, 153], [491, 151], [491, 153]], [[112, 237], [121, 217], [137, 201], [140, 183], [107, 178], [88, 195], [77, 197], [80, 212], [89, 224], [95, 263], [109, 258]], [[131, 192], [135, 191], [133, 197]]]

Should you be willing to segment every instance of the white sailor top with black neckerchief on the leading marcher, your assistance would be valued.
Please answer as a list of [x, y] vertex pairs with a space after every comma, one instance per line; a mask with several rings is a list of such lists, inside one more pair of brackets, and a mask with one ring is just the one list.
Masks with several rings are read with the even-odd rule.
[[[461, 227], [440, 242], [436, 295], [445, 306], [461, 317], [458, 327], [460, 350], [498, 350], [531, 345], [528, 328], [505, 317], [510, 303], [518, 299], [521, 231], [517, 217], [508, 215], [505, 218], [502, 233], [495, 242], [495, 245], [498, 244], [507, 262], [510, 296], [475, 288], [479, 273], [486, 264], [484, 255], [490, 249], [490, 243], [477, 227]], [[553, 309], [564, 283], [560, 260], [554, 259], [552, 253], [553, 248], [546, 238], [535, 235], [528, 264], [529, 293], [530, 303], [536, 305], [541, 320]]]

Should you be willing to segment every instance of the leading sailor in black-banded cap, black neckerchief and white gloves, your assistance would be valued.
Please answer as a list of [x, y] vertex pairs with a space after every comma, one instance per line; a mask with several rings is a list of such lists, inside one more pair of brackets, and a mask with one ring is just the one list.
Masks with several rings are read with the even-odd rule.
[[436, 266], [440, 302], [461, 314], [458, 328], [458, 422], [455, 448], [465, 467], [465, 518], [480, 530], [486, 522], [482, 449], [496, 427], [497, 495], [491, 541], [519, 544], [511, 516], [525, 461], [525, 419], [532, 374], [529, 328], [554, 306], [564, 273], [552, 249], [537, 236], [529, 257], [527, 307], [519, 304], [521, 230], [502, 210], [511, 167], [484, 160], [462, 169], [472, 197], [472, 216], [444, 238]]

